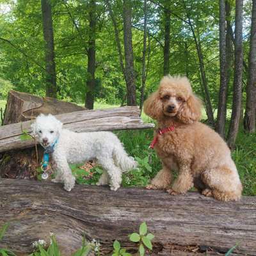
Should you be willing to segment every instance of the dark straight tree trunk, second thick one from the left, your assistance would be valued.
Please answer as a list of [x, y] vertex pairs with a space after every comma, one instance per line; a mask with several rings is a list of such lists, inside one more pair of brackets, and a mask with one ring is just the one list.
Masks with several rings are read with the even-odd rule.
[[86, 81], [86, 100], [85, 107], [93, 109], [94, 90], [95, 90], [95, 35], [96, 34], [96, 1], [90, 0], [89, 4], [89, 45], [88, 45], [88, 67]]

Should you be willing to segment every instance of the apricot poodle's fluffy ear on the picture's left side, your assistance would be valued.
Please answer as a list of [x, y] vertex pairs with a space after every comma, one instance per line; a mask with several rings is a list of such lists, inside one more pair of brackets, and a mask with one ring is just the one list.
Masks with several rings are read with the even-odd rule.
[[163, 116], [163, 104], [160, 100], [159, 92], [152, 93], [143, 104], [146, 115], [159, 120]]

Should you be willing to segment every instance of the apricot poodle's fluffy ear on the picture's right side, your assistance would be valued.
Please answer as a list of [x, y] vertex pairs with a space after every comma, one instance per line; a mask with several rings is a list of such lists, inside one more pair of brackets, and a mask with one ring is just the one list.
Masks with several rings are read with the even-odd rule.
[[177, 117], [184, 124], [191, 124], [201, 119], [202, 102], [195, 95], [190, 95], [188, 100], [182, 104], [177, 113]]

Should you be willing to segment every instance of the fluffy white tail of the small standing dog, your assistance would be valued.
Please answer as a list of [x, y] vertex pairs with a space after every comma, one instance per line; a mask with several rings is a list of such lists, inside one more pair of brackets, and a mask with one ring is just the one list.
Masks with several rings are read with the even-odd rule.
[[129, 170], [135, 169], [138, 163], [133, 157], [128, 156], [122, 145], [116, 145], [113, 150], [113, 159], [115, 164], [120, 167], [122, 172], [128, 172]]

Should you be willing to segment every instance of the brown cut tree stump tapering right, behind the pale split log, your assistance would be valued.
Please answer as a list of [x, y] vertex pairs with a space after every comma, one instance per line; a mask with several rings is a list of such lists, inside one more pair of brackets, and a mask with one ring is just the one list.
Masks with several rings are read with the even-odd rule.
[[24, 122], [35, 118], [40, 113], [58, 115], [82, 111], [86, 108], [74, 103], [51, 97], [38, 97], [29, 93], [10, 91], [4, 111], [3, 125]]

